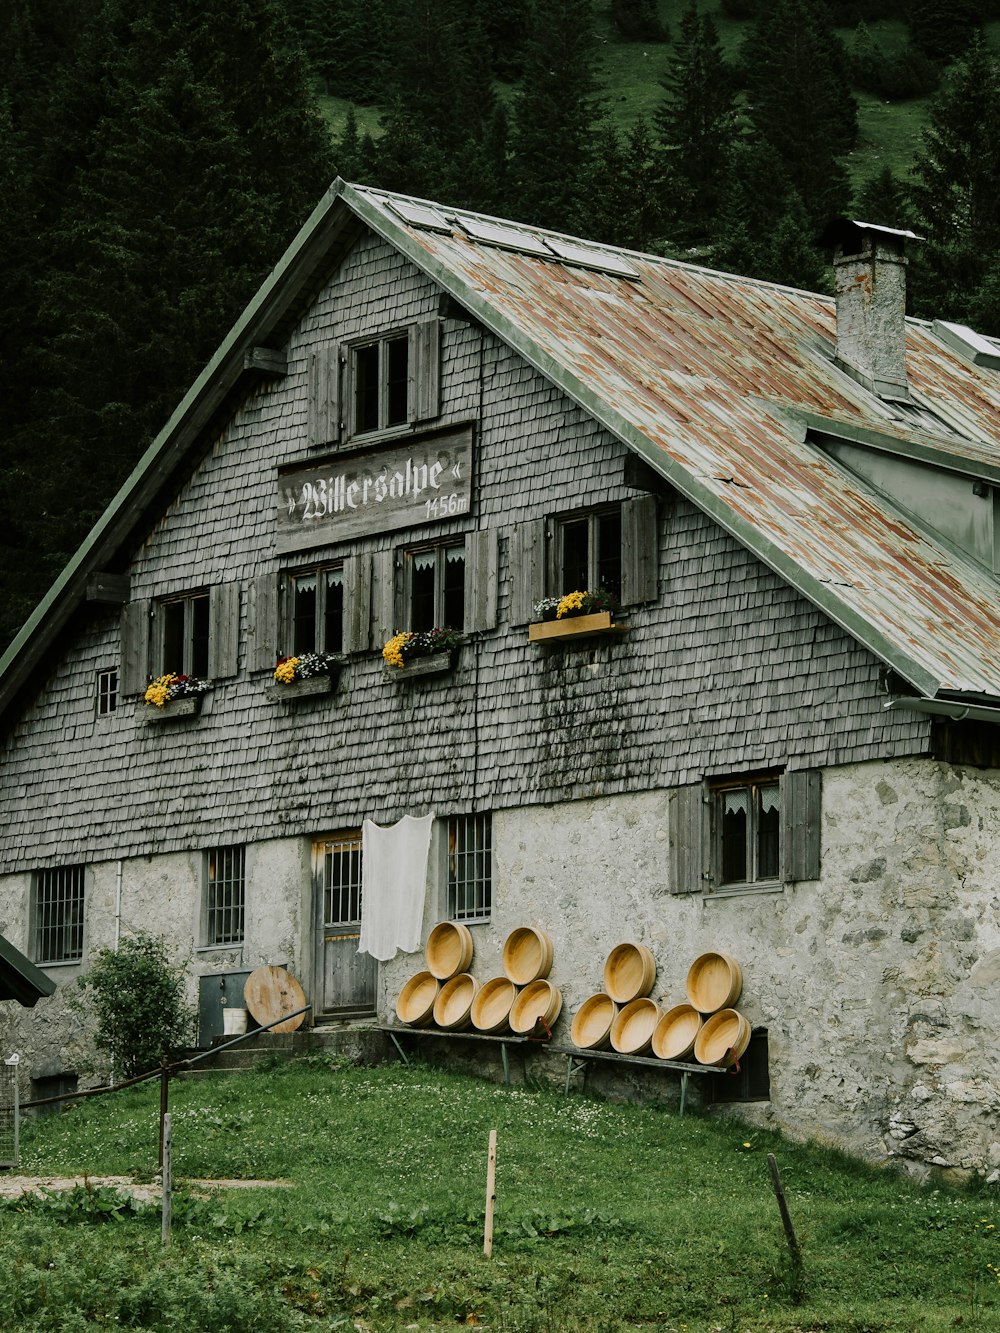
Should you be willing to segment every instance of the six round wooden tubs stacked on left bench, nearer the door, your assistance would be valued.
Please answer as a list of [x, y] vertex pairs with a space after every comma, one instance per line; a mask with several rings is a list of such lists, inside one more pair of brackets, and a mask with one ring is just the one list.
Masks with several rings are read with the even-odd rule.
[[545, 1036], [563, 1008], [561, 992], [548, 980], [552, 941], [537, 926], [517, 926], [508, 934], [504, 976], [481, 985], [468, 970], [472, 933], [460, 921], [441, 921], [431, 930], [424, 958], [427, 969], [412, 976], [396, 998], [396, 1016], [412, 1028], [433, 1024], [445, 1032]]

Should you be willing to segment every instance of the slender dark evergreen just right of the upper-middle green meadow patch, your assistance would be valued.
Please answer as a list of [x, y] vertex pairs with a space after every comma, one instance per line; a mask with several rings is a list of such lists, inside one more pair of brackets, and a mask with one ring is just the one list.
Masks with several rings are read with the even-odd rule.
[[684, 11], [653, 113], [660, 145], [663, 212], [671, 240], [709, 236], [736, 136], [736, 80], [712, 19], [692, 3]]

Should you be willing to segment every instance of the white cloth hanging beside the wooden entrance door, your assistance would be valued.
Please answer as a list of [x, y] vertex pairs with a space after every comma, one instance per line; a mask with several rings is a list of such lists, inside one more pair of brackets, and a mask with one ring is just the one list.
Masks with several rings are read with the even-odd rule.
[[371, 820], [361, 825], [359, 953], [388, 962], [399, 949], [420, 948], [432, 824], [433, 814], [404, 814], [388, 828]]

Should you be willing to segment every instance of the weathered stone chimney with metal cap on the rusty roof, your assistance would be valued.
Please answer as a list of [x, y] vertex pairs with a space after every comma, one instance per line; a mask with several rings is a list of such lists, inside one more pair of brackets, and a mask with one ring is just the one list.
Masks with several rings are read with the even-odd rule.
[[833, 244], [836, 363], [881, 399], [909, 401], [907, 388], [907, 239], [913, 232], [841, 219]]

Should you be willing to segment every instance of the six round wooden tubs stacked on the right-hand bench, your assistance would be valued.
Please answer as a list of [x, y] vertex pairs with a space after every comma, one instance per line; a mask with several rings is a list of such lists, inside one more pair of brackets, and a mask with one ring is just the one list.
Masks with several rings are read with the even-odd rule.
[[604, 990], [589, 996], [571, 1026], [580, 1050], [608, 1046], [624, 1056], [729, 1065], [747, 1049], [751, 1026], [732, 1005], [743, 992], [739, 962], [703, 953], [688, 969], [687, 1004], [663, 1009], [649, 998], [656, 960], [644, 944], [616, 945], [604, 964]]

